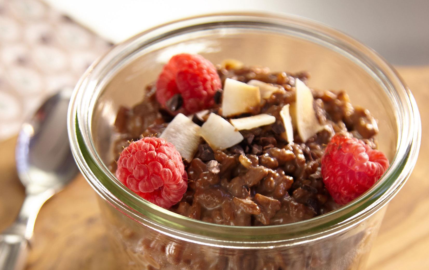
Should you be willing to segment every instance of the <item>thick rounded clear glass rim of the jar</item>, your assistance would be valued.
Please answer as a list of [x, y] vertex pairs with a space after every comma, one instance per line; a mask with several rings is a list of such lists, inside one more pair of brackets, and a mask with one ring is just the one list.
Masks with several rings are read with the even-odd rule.
[[[284, 225], [230, 226], [202, 222], [173, 213], [140, 198], [125, 188], [102, 162], [91, 135], [92, 109], [103, 90], [103, 80], [118, 70], [118, 63], [139, 48], [164, 39], [172, 33], [189, 31], [209, 24], [260, 24], [266, 27], [295, 27], [341, 48], [375, 72], [390, 91], [389, 96], [400, 109], [397, 119], [396, 154], [390, 167], [371, 189], [337, 210], [311, 219]], [[129, 62], [127, 62], [129, 63]], [[378, 78], [378, 79], [380, 79]], [[67, 118], [73, 156], [85, 178], [97, 193], [125, 215], [144, 225], [174, 237], [215, 245], [239, 246], [242, 243], [301, 241], [342, 231], [375, 213], [399, 191], [414, 168], [420, 148], [421, 123], [417, 105], [408, 87], [395, 69], [372, 49], [337, 30], [318, 22], [290, 15], [264, 12], [218, 13], [173, 21], [142, 32], [116, 45], [95, 61], [82, 76], [74, 90]], [[121, 199], [118, 198], [118, 194]], [[323, 235], [323, 236], [321, 236]], [[221, 244], [224, 243], [224, 244]], [[248, 246], [248, 245], [247, 245]], [[250, 246], [248, 246], [250, 247]]]

